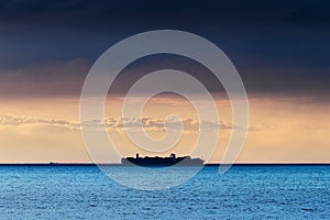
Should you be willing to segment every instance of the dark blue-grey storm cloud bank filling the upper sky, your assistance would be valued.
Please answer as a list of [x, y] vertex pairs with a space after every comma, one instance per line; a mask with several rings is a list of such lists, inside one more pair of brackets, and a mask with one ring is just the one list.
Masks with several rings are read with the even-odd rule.
[[[139, 32], [178, 29], [222, 48], [248, 92], [328, 96], [329, 9], [327, 1], [284, 0], [0, 1], [0, 92], [79, 95], [90, 65], [109, 46]], [[194, 72], [187, 61], [151, 58], [128, 69], [119, 84], [125, 87], [136, 69], [157, 65]], [[195, 67], [197, 77], [209, 76]], [[221, 88], [212, 78], [204, 81], [213, 91]]]

